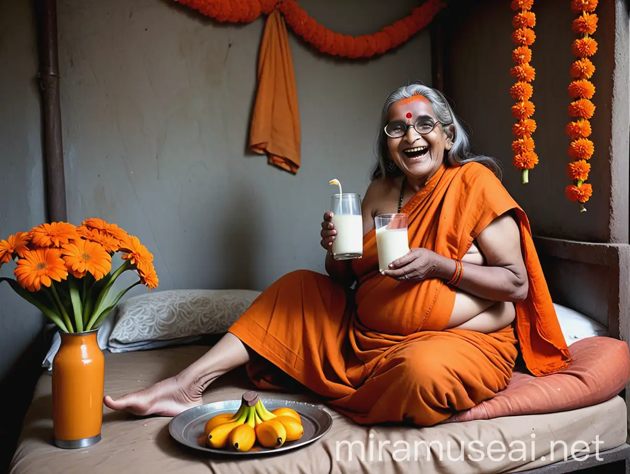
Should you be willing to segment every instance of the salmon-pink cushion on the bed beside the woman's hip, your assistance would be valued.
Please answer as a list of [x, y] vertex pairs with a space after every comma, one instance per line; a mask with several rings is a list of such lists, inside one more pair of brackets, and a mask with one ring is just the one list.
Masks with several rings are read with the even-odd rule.
[[541, 377], [514, 371], [505, 390], [452, 415], [444, 423], [588, 407], [614, 397], [630, 380], [626, 342], [612, 337], [588, 337], [571, 344], [569, 352], [568, 368]]

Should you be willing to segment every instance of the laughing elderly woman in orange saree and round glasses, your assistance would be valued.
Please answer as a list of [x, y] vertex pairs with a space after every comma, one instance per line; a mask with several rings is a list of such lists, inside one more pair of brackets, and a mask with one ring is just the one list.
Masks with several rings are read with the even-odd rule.
[[[496, 162], [471, 154], [442, 94], [420, 84], [390, 94], [378, 152], [361, 259], [333, 259], [336, 230], [324, 214], [328, 275], [283, 276], [202, 358], [105, 404], [176, 415], [246, 364], [258, 388], [306, 387], [357, 423], [431, 426], [503, 390], [519, 348], [536, 376], [564, 368], [527, 218]], [[386, 213], [408, 215], [411, 251], [381, 273], [374, 217]]]

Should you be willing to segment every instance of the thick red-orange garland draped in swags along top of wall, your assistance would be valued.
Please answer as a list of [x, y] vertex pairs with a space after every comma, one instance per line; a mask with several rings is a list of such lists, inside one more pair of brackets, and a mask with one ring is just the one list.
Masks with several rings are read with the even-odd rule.
[[[442, 0], [427, 0], [410, 15], [385, 26], [373, 35], [353, 37], [328, 30], [311, 18], [295, 0], [175, 0], [217, 21], [250, 23], [260, 14], [279, 9], [287, 25], [319, 52], [347, 58], [372, 57], [398, 47], [423, 30], [446, 6]], [[528, 21], [528, 20], [523, 20]], [[525, 33], [527, 34], [527, 33]]]

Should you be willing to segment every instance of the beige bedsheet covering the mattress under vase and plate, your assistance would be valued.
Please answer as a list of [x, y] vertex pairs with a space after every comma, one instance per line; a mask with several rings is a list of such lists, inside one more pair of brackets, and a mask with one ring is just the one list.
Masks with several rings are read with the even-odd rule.
[[[117, 397], [146, 387], [174, 375], [206, 350], [189, 346], [123, 354], [105, 351], [105, 391]], [[235, 371], [216, 381], [203, 400], [240, 398], [251, 388], [244, 372]], [[311, 395], [265, 392], [264, 396], [318, 403]], [[139, 419], [104, 407], [102, 441], [87, 449], [64, 450], [52, 444], [50, 400], [50, 375], [44, 374], [26, 415], [11, 474], [498, 473], [547, 465], [563, 460], [564, 453], [568, 458], [572, 453], [581, 458], [585, 455], [582, 449], [601, 452], [626, 441], [626, 406], [620, 397], [614, 397], [599, 405], [557, 414], [422, 429], [362, 427], [321, 405], [332, 415], [333, 427], [318, 442], [278, 456], [238, 461], [183, 449], [169, 435], [169, 418]], [[349, 443], [354, 443], [352, 448]]]

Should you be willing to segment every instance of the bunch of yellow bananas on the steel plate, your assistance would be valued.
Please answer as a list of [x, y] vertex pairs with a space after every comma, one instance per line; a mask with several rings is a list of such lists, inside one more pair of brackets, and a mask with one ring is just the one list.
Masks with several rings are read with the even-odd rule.
[[243, 394], [238, 412], [216, 415], [205, 424], [206, 443], [211, 448], [232, 446], [241, 452], [249, 451], [256, 441], [265, 448], [280, 448], [303, 433], [302, 419], [295, 410], [282, 407], [270, 412], [253, 391]]

